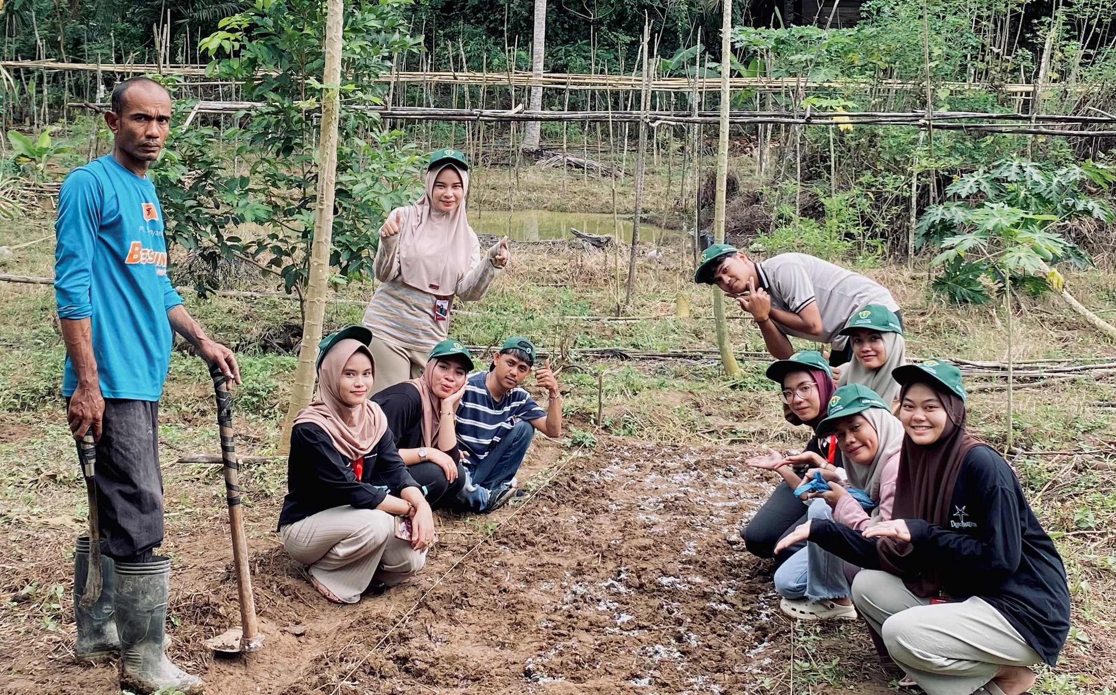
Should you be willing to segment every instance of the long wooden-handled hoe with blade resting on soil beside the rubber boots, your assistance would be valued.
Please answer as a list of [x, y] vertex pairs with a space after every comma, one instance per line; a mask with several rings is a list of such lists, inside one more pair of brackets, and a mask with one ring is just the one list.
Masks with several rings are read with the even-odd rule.
[[248, 571], [248, 540], [244, 538], [244, 519], [240, 506], [240, 464], [232, 440], [232, 396], [219, 366], [210, 366], [210, 376], [213, 377], [213, 393], [217, 396], [217, 424], [221, 429], [221, 460], [224, 463], [224, 492], [229, 501], [229, 527], [232, 531], [232, 561], [237, 569], [237, 589], [240, 591], [241, 626], [205, 640], [205, 645], [214, 651], [229, 654], [257, 651], [263, 646], [263, 633], [256, 619], [252, 577]]

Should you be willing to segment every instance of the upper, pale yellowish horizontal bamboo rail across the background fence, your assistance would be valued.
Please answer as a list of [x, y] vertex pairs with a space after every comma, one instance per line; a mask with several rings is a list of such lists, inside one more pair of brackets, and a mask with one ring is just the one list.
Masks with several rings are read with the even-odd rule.
[[[138, 62], [96, 64], [96, 62], [61, 62], [59, 60], [3, 60], [0, 67], [7, 69], [115, 73], [123, 75], [179, 75], [182, 77], [213, 77], [206, 74], [203, 65], [151, 65]], [[459, 86], [511, 85], [516, 87], [535, 87], [554, 89], [596, 89], [596, 90], [636, 90], [643, 88], [643, 78], [636, 75], [594, 75], [577, 73], [546, 73], [536, 77], [531, 73], [513, 70], [510, 73], [475, 73], [475, 71], [393, 71], [384, 73], [375, 78], [379, 83], [423, 83]], [[190, 83], [186, 83], [187, 85]], [[983, 89], [1000, 91], [1007, 95], [1029, 97], [1035, 91], [1035, 85], [1011, 84], [991, 85], [982, 83], [943, 81], [935, 86], [954, 90]], [[1057, 85], [1054, 85], [1057, 86]], [[875, 89], [910, 89], [922, 90], [921, 81], [896, 79], [836, 79], [825, 81], [802, 80], [800, 77], [730, 77], [730, 89], [754, 89], [758, 91], [787, 91], [807, 89], [844, 89], [849, 87]], [[719, 77], [703, 77], [696, 81], [690, 77], [656, 77], [650, 81], [653, 91], [686, 91], [694, 89], [714, 91], [721, 88]], [[1088, 89], [1088, 85], [1075, 86], [1076, 89]]]

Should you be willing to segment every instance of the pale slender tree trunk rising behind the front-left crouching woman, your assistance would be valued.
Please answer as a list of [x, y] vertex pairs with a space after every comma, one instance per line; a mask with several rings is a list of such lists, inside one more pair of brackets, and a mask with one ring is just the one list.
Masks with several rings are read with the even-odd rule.
[[321, 139], [318, 143], [318, 204], [314, 219], [314, 242], [310, 247], [310, 277], [306, 288], [306, 316], [302, 320], [302, 345], [298, 351], [295, 385], [279, 435], [279, 452], [290, 451], [290, 429], [295, 416], [314, 394], [314, 364], [318, 358], [321, 326], [326, 315], [326, 290], [329, 280], [329, 247], [334, 232], [334, 184], [337, 181], [338, 93], [341, 81], [341, 12], [343, 0], [327, 0], [326, 66], [321, 78], [327, 85], [321, 94]]

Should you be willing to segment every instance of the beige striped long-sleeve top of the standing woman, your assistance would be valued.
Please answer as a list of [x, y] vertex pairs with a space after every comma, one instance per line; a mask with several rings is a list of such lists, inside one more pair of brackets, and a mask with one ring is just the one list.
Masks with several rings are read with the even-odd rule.
[[[450, 335], [449, 315], [443, 321], [434, 318], [435, 302], [444, 300], [448, 312], [453, 295], [435, 297], [405, 284], [400, 272], [398, 249], [398, 234], [379, 240], [373, 263], [379, 286], [364, 311], [364, 325], [376, 340], [402, 348], [430, 350]], [[492, 280], [502, 270], [492, 264], [496, 253], [497, 244], [493, 244], [482, 261], [481, 244], [473, 234], [473, 257], [465, 277], [458, 283], [458, 297], [464, 301], [475, 301], [484, 296]]]

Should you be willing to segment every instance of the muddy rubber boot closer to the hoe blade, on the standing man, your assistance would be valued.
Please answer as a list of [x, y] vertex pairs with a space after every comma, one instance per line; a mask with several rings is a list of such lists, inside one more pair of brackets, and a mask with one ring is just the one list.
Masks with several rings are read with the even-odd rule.
[[166, 658], [166, 600], [171, 560], [116, 562], [116, 627], [121, 635], [121, 687], [153, 693], [171, 686], [203, 692], [204, 684]]

